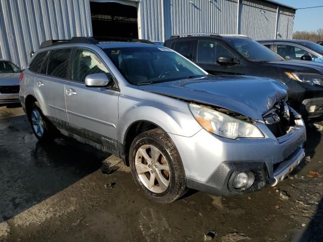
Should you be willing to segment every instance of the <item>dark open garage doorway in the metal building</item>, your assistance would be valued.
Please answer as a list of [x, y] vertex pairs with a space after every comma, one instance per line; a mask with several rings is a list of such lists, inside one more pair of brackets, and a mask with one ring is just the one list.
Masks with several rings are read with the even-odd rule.
[[137, 39], [137, 8], [109, 1], [102, 2], [90, 2], [93, 37]]

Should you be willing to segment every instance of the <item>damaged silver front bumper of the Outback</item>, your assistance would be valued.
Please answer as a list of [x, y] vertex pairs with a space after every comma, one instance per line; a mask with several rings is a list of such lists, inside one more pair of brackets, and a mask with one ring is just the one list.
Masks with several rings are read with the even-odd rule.
[[[229, 196], [275, 186], [284, 179], [304, 157], [305, 126], [295, 126], [280, 138], [264, 124], [257, 127], [265, 134], [264, 139], [229, 140], [205, 130], [192, 137], [169, 134], [181, 155], [187, 186]], [[250, 171], [254, 174], [252, 186], [246, 190], [235, 189], [235, 174]]]

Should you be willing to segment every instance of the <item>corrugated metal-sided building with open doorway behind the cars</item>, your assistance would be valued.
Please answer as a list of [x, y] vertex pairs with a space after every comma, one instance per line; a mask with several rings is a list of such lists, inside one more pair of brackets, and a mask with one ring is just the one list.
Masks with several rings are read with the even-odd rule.
[[296, 9], [271, 0], [1, 0], [0, 59], [21, 68], [48, 39], [173, 34], [244, 34], [291, 38]]

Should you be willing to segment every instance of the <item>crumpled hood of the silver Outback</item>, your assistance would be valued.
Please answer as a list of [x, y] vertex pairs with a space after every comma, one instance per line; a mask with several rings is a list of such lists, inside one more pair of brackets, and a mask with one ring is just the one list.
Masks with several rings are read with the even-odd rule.
[[286, 85], [250, 76], [208, 76], [156, 83], [139, 89], [216, 105], [262, 120], [262, 114], [287, 95]]

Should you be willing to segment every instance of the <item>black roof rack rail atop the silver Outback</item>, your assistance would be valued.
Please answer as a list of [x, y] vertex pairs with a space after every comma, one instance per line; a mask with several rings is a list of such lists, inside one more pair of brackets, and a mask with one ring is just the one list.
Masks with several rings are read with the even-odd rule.
[[120, 41], [120, 42], [138, 42], [145, 44], [154, 44], [154, 42], [146, 39], [131, 39], [131, 38], [121, 38], [121, 37], [72, 37], [72, 39], [50, 39], [43, 41], [40, 45], [40, 48], [44, 48], [56, 44], [65, 44], [65, 43], [82, 43], [82, 44], [98, 44], [101, 42], [111, 42], [111, 41]]

